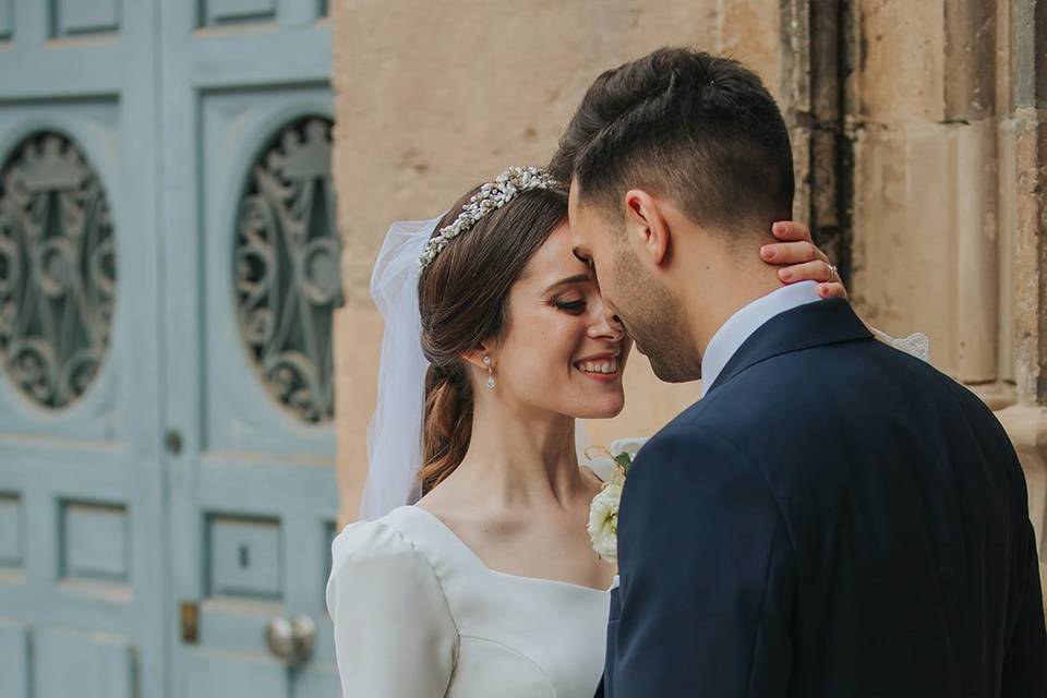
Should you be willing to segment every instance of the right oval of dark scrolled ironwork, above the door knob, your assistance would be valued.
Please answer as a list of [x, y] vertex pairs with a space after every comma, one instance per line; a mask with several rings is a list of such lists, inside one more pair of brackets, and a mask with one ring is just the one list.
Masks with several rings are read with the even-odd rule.
[[334, 416], [332, 323], [341, 304], [330, 121], [285, 127], [251, 168], [237, 220], [240, 330], [274, 397], [305, 422]]

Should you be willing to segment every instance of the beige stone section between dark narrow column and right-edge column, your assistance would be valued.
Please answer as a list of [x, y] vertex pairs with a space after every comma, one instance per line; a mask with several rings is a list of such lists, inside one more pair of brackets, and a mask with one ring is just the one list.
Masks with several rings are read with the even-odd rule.
[[935, 364], [997, 381], [995, 16], [980, 0], [856, 0], [853, 291]]

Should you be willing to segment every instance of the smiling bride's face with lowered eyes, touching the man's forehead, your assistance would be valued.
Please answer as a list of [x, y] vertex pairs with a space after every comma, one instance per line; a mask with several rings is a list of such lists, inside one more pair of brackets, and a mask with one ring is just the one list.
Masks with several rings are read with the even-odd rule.
[[600, 289], [571, 252], [566, 220], [509, 291], [496, 352], [498, 390], [528, 407], [576, 418], [614, 417], [625, 404], [630, 341], [607, 322]]

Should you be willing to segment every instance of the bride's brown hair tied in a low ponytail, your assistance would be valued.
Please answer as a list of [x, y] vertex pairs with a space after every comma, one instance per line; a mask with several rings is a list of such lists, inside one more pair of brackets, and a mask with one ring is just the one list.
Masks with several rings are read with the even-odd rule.
[[[436, 226], [454, 222], [462, 196]], [[508, 325], [509, 289], [527, 263], [567, 217], [567, 194], [554, 189], [520, 192], [455, 238], [422, 270], [418, 308], [425, 374], [422, 493], [447, 478], [469, 450], [473, 386], [462, 354], [502, 338]]]

